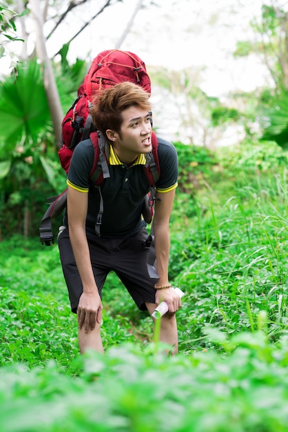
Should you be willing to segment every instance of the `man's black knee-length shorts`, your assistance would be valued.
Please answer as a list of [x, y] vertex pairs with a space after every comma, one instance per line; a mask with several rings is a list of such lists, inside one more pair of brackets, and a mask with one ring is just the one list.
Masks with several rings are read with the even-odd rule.
[[[155, 303], [154, 284], [158, 278], [150, 277], [148, 273], [147, 258], [150, 247], [145, 244], [147, 237], [146, 228], [142, 228], [133, 237], [110, 239], [95, 236], [93, 240], [88, 239], [94, 277], [101, 297], [107, 274], [114, 271], [141, 311], [147, 309], [145, 302]], [[59, 235], [58, 245], [71, 309], [76, 313], [83, 287], [68, 228]]]

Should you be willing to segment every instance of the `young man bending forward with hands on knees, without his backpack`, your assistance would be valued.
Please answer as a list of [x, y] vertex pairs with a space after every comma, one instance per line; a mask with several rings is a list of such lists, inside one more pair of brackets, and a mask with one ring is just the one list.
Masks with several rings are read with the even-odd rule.
[[[68, 173], [65, 226], [58, 243], [71, 308], [79, 323], [79, 348], [103, 352], [101, 340], [103, 284], [114, 271], [139, 309], [150, 315], [165, 300], [169, 311], [161, 318], [160, 339], [178, 350], [175, 313], [181, 299], [168, 281], [169, 217], [178, 176], [174, 146], [158, 139], [161, 175], [156, 182], [153, 220], [158, 277], [147, 270], [149, 246], [141, 216], [149, 190], [143, 165], [152, 150], [151, 105], [143, 88], [125, 82], [99, 94], [92, 119], [110, 145], [110, 177], [99, 189], [91, 185], [94, 149], [90, 139], [79, 143]], [[95, 233], [96, 215], [103, 199], [101, 235]]]

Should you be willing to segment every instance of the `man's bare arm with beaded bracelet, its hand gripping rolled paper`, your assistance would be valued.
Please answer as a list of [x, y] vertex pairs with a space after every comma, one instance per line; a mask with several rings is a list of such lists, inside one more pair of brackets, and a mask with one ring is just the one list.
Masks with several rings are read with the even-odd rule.
[[[168, 263], [170, 249], [169, 219], [172, 212], [175, 189], [166, 193], [156, 192], [155, 215], [153, 219], [155, 253], [159, 279], [158, 286], [165, 286], [168, 280]], [[158, 200], [158, 199], [159, 200]], [[156, 291], [156, 304], [167, 302], [169, 312], [176, 312], [181, 306], [181, 298], [172, 288]]]

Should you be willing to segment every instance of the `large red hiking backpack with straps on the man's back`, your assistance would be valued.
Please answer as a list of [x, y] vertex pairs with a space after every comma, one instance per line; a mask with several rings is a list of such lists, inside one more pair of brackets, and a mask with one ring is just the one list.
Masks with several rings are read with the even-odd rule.
[[[151, 81], [147, 74], [145, 63], [135, 54], [129, 51], [106, 50], [97, 55], [90, 69], [85, 75], [83, 84], [78, 89], [78, 97], [68, 110], [62, 121], [62, 139], [59, 150], [61, 166], [68, 173], [73, 150], [80, 141], [90, 138], [94, 146], [94, 161], [90, 178], [95, 187], [99, 188], [103, 180], [110, 177], [108, 160], [105, 151], [105, 139], [101, 132], [95, 130], [92, 124], [90, 108], [94, 93], [102, 88], [110, 88], [123, 81], [131, 81], [151, 92]], [[152, 116], [151, 116], [152, 121]], [[152, 221], [153, 215], [153, 190], [160, 175], [158, 161], [158, 140], [152, 132], [152, 152], [149, 164], [144, 167], [147, 180], [150, 184], [150, 194], [143, 205], [143, 217], [147, 223]], [[100, 194], [101, 196], [101, 194]], [[60, 195], [47, 199], [50, 206], [45, 211], [40, 223], [40, 241], [46, 246], [54, 243], [51, 218], [58, 217], [66, 206], [67, 189]], [[100, 206], [101, 208], [102, 206]], [[96, 233], [100, 233], [102, 213], [96, 218]]]

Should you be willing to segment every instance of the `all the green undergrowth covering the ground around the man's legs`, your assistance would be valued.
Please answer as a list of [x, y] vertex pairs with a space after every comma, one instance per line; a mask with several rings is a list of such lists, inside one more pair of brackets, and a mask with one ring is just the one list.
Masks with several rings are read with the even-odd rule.
[[1, 242], [1, 429], [286, 432], [286, 185], [285, 170], [211, 181], [174, 215], [170, 279], [185, 291], [174, 357], [114, 274], [105, 355], [81, 357], [56, 246]]

